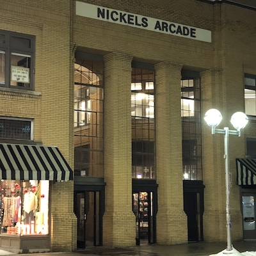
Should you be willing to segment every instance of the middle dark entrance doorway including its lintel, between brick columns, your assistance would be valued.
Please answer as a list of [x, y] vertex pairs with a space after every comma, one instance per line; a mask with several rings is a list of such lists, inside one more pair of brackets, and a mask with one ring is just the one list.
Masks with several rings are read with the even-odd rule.
[[156, 180], [132, 180], [132, 211], [136, 216], [136, 245], [156, 243]]

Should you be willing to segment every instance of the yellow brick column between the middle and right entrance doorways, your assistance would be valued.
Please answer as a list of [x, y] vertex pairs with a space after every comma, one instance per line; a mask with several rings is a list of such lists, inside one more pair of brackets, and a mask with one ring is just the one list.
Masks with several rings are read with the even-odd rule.
[[158, 187], [157, 243], [188, 242], [183, 207], [182, 124], [179, 64], [156, 68], [156, 164]]

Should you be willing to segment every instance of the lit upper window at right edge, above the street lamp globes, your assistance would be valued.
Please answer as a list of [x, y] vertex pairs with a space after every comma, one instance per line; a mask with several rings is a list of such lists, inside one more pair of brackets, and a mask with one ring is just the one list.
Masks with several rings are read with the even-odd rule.
[[245, 114], [256, 116], [256, 76], [244, 75], [244, 107]]

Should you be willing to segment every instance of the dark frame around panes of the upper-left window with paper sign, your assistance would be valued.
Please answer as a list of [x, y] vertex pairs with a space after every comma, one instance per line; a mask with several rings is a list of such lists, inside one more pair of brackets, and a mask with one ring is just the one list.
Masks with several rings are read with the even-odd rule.
[[[0, 84], [0, 87], [15, 88], [18, 90], [35, 90], [35, 36], [26, 35], [23, 33], [16, 33], [12, 31], [0, 30], [0, 35], [5, 36], [5, 41], [0, 42], [0, 50], [5, 51], [5, 70], [4, 70], [4, 84]], [[30, 47], [12, 46], [12, 38], [24, 38], [30, 40]], [[12, 53], [19, 53], [31, 56], [30, 68], [29, 68], [29, 87], [11, 85], [11, 56]]]

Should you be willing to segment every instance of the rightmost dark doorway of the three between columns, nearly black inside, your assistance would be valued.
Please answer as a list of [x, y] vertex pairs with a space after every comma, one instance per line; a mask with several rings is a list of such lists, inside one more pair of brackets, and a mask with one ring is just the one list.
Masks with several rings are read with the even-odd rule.
[[183, 180], [184, 211], [188, 216], [188, 241], [204, 241], [204, 184], [201, 180]]

